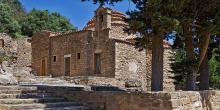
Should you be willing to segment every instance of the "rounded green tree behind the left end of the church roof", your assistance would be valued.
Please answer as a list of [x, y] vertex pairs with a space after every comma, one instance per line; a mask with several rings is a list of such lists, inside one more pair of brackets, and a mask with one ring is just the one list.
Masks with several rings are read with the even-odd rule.
[[74, 31], [76, 28], [59, 13], [49, 13], [47, 10], [33, 9], [21, 20], [23, 35], [32, 36], [41, 30], [54, 32]]

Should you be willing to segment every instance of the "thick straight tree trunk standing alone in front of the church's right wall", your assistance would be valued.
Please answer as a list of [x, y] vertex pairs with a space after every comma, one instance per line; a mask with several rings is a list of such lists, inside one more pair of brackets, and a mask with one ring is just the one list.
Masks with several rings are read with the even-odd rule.
[[152, 39], [152, 80], [151, 90], [163, 90], [163, 38], [156, 36]]

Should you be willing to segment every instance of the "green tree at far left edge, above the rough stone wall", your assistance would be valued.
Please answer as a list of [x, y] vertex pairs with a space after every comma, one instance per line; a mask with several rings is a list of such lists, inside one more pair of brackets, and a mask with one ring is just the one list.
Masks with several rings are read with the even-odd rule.
[[13, 38], [20, 36], [20, 25], [13, 17], [13, 12], [6, 4], [0, 3], [0, 32], [8, 33]]

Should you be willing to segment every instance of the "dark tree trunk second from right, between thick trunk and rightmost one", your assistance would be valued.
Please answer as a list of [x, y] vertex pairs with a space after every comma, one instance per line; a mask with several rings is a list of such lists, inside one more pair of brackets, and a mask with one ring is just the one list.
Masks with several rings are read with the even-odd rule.
[[[188, 61], [194, 60], [194, 46], [193, 46], [193, 38], [192, 35], [189, 34], [190, 28], [188, 26], [184, 26], [184, 36], [186, 38], [186, 57]], [[187, 79], [186, 79], [186, 90], [195, 90], [196, 89], [196, 74], [197, 69], [192, 64], [190, 65]]]

